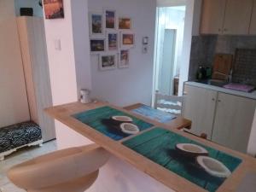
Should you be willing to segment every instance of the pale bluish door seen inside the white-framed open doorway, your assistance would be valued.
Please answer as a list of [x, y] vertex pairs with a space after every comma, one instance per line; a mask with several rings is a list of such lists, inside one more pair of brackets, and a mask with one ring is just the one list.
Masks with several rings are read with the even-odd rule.
[[173, 93], [175, 42], [176, 30], [166, 29], [163, 42], [162, 61], [160, 63], [158, 89], [161, 94], [167, 96], [171, 96]]

